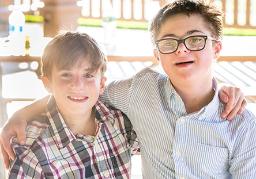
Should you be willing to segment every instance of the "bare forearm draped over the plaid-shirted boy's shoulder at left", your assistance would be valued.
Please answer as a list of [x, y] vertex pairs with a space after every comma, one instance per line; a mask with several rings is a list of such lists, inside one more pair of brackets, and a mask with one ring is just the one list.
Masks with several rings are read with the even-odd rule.
[[12, 118], [24, 118], [27, 123], [31, 122], [32, 119], [35, 119], [37, 116], [45, 111], [49, 98], [50, 95], [45, 96], [39, 100], [35, 100], [32, 104], [27, 105], [24, 108], [21, 108], [20, 110], [15, 112]]

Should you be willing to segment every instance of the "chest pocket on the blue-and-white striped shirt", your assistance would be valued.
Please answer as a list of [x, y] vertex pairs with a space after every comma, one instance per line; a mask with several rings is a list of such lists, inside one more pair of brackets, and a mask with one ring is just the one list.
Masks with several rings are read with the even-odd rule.
[[[210, 146], [208, 144], [197, 144], [195, 155], [195, 171], [199, 177], [225, 178], [229, 173], [228, 148]], [[204, 176], [202, 176], [204, 174]]]

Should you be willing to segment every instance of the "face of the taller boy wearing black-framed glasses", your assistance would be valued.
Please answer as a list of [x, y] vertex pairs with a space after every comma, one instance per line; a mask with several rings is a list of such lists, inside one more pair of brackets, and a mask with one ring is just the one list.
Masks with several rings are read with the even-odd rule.
[[[176, 14], [168, 18], [160, 28], [157, 40], [165, 38], [185, 39], [189, 36], [211, 33], [205, 28], [204, 21], [197, 14]], [[215, 44], [213, 44], [215, 43]], [[161, 54], [158, 49], [153, 53], [173, 84], [180, 82], [198, 82], [212, 79], [212, 63], [219, 57], [221, 42], [206, 40], [201, 51], [189, 51], [183, 43], [176, 52]]]

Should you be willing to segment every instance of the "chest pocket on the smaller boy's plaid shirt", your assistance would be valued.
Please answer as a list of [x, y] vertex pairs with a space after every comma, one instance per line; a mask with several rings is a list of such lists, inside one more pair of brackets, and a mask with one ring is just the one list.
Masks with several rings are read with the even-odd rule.
[[118, 154], [110, 154], [112, 170], [115, 178], [124, 178], [131, 175], [131, 152], [130, 148], [119, 151]]

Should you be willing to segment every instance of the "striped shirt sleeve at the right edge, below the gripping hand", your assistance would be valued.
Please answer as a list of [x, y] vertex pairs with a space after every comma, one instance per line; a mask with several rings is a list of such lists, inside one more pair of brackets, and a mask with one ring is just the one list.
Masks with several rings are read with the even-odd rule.
[[232, 178], [256, 178], [256, 123], [255, 119], [246, 120], [250, 125], [240, 128], [243, 132], [238, 136], [234, 157], [229, 163]]

